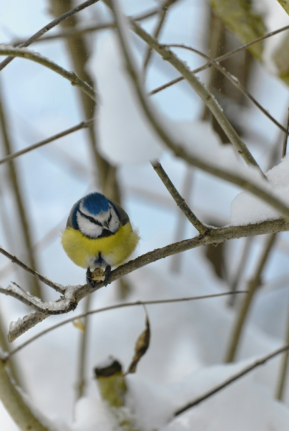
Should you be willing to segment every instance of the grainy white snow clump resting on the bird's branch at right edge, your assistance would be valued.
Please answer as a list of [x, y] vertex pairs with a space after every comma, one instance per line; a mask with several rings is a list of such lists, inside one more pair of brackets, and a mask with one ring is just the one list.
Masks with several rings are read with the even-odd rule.
[[[285, 156], [279, 165], [266, 174], [274, 194], [289, 205], [289, 156]], [[280, 214], [249, 192], [241, 192], [231, 203], [231, 223], [245, 225], [262, 220], [278, 219]]]

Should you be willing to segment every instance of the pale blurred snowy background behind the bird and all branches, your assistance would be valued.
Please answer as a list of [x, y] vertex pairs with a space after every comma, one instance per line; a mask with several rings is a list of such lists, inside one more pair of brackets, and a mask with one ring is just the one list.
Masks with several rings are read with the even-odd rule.
[[[16, 7], [15, 3], [14, 7], [6, 2], [0, 4], [2, 43], [10, 43], [15, 38], [26, 38], [53, 19], [48, 2], [31, 0], [29, 9], [26, 2], [16, 3]], [[127, 15], [135, 15], [154, 8], [158, 3], [154, 0], [123, 0], [121, 4]], [[264, 13], [267, 31], [289, 24], [289, 17], [277, 1], [266, 1], [264, 5], [258, 1], [257, 6]], [[80, 12], [78, 19], [86, 26], [107, 22], [110, 15], [99, 2]], [[151, 32], [155, 22], [154, 17], [141, 25]], [[160, 42], [191, 45], [209, 55], [208, 26], [209, 5], [206, 0], [181, 0], [169, 10]], [[51, 33], [57, 31], [54, 28]], [[274, 43], [279, 43], [281, 38], [282, 34], [266, 42], [266, 67], [257, 62], [253, 64], [248, 88], [265, 109], [270, 110], [271, 115], [284, 124], [289, 104], [288, 87], [269, 74], [273, 69], [271, 53], [276, 46]], [[247, 192], [205, 172], [192, 169], [166, 150], [150, 130], [138, 108], [112, 31], [89, 33], [86, 42], [91, 51], [89, 73], [98, 84], [101, 101], [99, 122], [96, 125], [99, 151], [105, 159], [117, 166], [122, 206], [132, 222], [139, 227], [141, 242], [135, 257], [197, 234], [196, 229], [180, 213], [148, 162], [155, 157], [160, 158], [178, 191], [204, 223], [224, 226], [274, 217], [272, 209], [258, 203]], [[40, 52], [65, 69], [72, 69], [69, 53], [62, 41], [35, 43], [30, 49]], [[132, 36], [131, 52], [138, 67], [142, 64], [145, 50], [140, 39]], [[203, 64], [203, 60], [191, 52], [175, 52], [191, 69]], [[146, 89], [150, 91], [176, 76], [177, 73], [169, 64], [153, 54], [145, 79]], [[200, 74], [200, 78], [208, 83], [208, 72]], [[0, 73], [0, 85], [14, 151], [84, 119], [78, 104], [77, 89], [34, 62], [14, 59]], [[220, 138], [211, 125], [201, 121], [203, 103], [188, 84], [176, 84], [152, 96], [150, 101], [152, 109], [158, 112], [169, 130], [175, 135], [179, 134], [194, 152], [206, 156], [216, 149], [221, 151]], [[222, 104], [222, 100], [220, 103]], [[281, 148], [283, 142], [283, 136], [276, 126], [251, 103], [235, 106], [235, 109], [242, 137], [261, 169], [266, 172], [279, 164], [280, 157], [272, 164], [272, 149], [276, 142], [280, 143]], [[225, 148], [224, 151], [228, 153], [232, 166], [235, 163], [242, 165], [243, 161], [237, 159], [231, 148]], [[281, 154], [281, 150], [279, 153]], [[276, 193], [287, 203], [288, 157], [268, 174]], [[19, 157], [15, 164], [33, 233], [32, 242], [38, 244], [38, 271], [63, 285], [83, 284], [85, 271], [67, 258], [61, 248], [59, 233], [66, 223], [71, 206], [94, 189], [87, 132], [77, 131], [61, 138]], [[244, 163], [242, 166], [242, 169], [246, 168]], [[0, 244], [25, 260], [6, 165], [0, 166], [0, 178]], [[43, 241], [43, 238], [46, 240]], [[247, 281], [254, 273], [265, 240], [262, 236], [253, 239], [239, 289], [247, 288]], [[93, 295], [91, 308], [133, 300], [191, 297], [228, 291], [244, 244], [244, 239], [225, 244], [226, 275], [221, 278], [216, 275], [204, 248], [200, 247], [180, 256], [161, 259], [130, 274], [127, 277], [130, 291], [125, 298], [120, 297], [117, 282], [102, 288]], [[228, 305], [227, 297], [147, 307], [151, 344], [138, 364], [136, 374], [127, 377], [128, 408], [133, 411], [138, 426], [136, 429], [288, 429], [288, 385], [283, 402], [276, 400], [281, 357], [268, 362], [166, 425], [175, 410], [259, 356], [285, 344], [289, 313], [288, 252], [288, 234], [278, 234], [233, 364], [224, 364], [224, 358], [241, 295], [234, 307]], [[1, 286], [6, 287], [10, 281], [16, 281], [29, 290], [25, 277], [22, 270], [0, 256]], [[43, 291], [46, 298], [57, 299], [57, 295], [49, 287], [43, 286]], [[82, 303], [74, 313], [80, 312], [83, 312]], [[23, 304], [11, 298], [0, 297], [0, 317], [5, 334], [11, 321], [27, 313], [28, 309]], [[50, 316], [16, 340], [12, 348], [67, 317], [71, 315]], [[145, 313], [142, 307], [116, 309], [93, 315], [89, 319], [85, 397], [76, 404], [75, 386], [81, 337], [79, 329], [71, 323], [62, 326], [17, 353], [15, 362], [21, 383], [34, 406], [59, 430], [117, 429], [108, 407], [98, 394], [93, 367], [113, 355], [126, 369], [144, 323]], [[18, 430], [2, 406], [0, 428], [5, 431]]]

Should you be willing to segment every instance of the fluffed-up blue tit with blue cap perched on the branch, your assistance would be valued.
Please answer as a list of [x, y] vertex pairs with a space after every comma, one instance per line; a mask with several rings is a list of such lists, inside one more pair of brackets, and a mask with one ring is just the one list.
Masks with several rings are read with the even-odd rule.
[[131, 224], [124, 209], [96, 191], [74, 204], [61, 231], [65, 253], [76, 265], [87, 268], [86, 282], [90, 285], [95, 283], [93, 273], [97, 274], [98, 268], [105, 271], [101, 273], [104, 280], [97, 281], [107, 285], [111, 268], [125, 262], [139, 240], [138, 228]]

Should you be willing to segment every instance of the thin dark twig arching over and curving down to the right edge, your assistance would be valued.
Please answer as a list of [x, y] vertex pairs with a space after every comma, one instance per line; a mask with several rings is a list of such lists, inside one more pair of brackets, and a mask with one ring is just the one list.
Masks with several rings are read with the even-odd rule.
[[171, 48], [182, 48], [185, 50], [189, 50], [189, 51], [192, 51], [192, 52], [200, 55], [201, 57], [207, 59], [208, 61], [210, 61], [212, 63], [212, 65], [216, 69], [218, 69], [218, 71], [220, 71], [231, 82], [231, 84], [234, 85], [234, 87], [236, 87], [245, 97], [247, 97], [249, 100], [251, 100], [251, 102], [254, 103], [254, 105], [257, 106], [257, 108], [260, 109], [260, 111], [263, 112], [263, 114], [267, 118], [269, 118], [275, 125], [277, 125], [277, 127], [279, 127], [280, 130], [282, 130], [286, 136], [289, 135], [288, 127], [287, 128], [283, 127], [282, 124], [280, 124], [273, 116], [271, 116], [271, 114], [267, 111], [267, 109], [264, 109], [263, 106], [260, 105], [260, 103], [255, 99], [255, 97], [253, 97], [252, 94], [250, 94], [249, 91], [245, 87], [243, 87], [243, 85], [240, 83], [239, 79], [236, 78], [234, 75], [232, 75], [230, 72], [228, 72], [223, 66], [221, 66], [219, 64], [218, 61], [210, 59], [210, 57], [207, 56], [206, 54], [202, 53], [202, 51], [196, 50], [195, 48], [192, 48], [188, 45], [184, 45], [184, 44], [162, 44], [161, 46], [168, 47], [168, 48], [170, 48], [170, 47]]

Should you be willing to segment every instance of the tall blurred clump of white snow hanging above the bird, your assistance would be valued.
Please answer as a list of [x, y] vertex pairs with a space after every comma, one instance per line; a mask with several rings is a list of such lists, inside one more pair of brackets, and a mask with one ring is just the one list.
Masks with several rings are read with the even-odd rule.
[[[134, 53], [130, 40], [131, 54]], [[114, 165], [154, 159], [163, 151], [162, 140], [140, 106], [115, 32], [99, 37], [96, 58], [90, 61], [100, 94], [96, 133], [99, 150]], [[135, 57], [135, 56], [134, 56]], [[140, 73], [140, 72], [138, 72]], [[150, 109], [154, 109], [147, 100]]]

